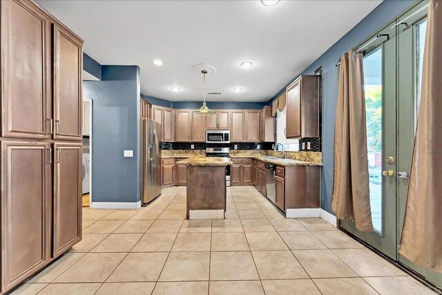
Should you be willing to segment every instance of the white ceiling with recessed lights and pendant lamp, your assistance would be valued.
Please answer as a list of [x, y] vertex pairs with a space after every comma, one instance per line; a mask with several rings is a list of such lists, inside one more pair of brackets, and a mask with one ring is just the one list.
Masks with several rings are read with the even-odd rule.
[[382, 1], [38, 2], [102, 65], [139, 65], [142, 94], [200, 101], [202, 75], [191, 66], [209, 63], [217, 72], [207, 91], [222, 92], [209, 101], [268, 101]]

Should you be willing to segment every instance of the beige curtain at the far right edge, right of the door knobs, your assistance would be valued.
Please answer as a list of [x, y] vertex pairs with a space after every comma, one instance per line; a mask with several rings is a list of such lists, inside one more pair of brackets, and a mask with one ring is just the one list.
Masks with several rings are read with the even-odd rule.
[[421, 106], [399, 253], [412, 263], [442, 273], [441, 48], [442, 1], [430, 1]]

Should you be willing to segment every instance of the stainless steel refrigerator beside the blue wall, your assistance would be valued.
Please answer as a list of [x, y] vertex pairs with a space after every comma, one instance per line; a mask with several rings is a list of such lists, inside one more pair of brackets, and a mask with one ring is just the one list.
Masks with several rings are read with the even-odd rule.
[[142, 204], [146, 205], [161, 194], [161, 124], [141, 119]]

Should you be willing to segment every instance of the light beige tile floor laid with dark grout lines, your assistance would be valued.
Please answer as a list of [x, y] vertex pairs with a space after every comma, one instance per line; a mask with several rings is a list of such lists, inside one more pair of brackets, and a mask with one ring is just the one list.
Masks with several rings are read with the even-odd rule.
[[227, 192], [224, 220], [184, 220], [185, 187], [140, 210], [84, 208], [83, 241], [12, 294], [434, 294], [323, 219]]

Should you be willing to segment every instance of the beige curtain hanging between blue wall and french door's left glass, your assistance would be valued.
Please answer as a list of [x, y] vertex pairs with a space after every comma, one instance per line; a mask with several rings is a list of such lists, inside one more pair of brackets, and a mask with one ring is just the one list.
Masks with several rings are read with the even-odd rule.
[[358, 230], [370, 232], [373, 225], [363, 87], [362, 53], [350, 50], [340, 59], [332, 210], [338, 219], [354, 221]]

